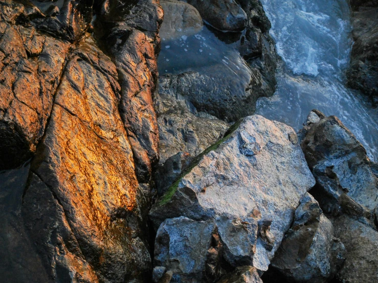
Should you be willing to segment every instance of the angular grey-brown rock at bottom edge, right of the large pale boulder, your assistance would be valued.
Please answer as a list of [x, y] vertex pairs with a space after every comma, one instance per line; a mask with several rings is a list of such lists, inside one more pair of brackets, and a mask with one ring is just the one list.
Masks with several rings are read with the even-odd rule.
[[300, 200], [294, 223], [283, 238], [272, 267], [288, 281], [320, 283], [328, 282], [344, 260], [344, 245], [333, 237], [331, 222], [307, 193]]

